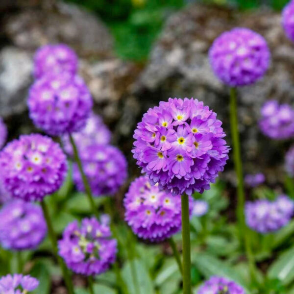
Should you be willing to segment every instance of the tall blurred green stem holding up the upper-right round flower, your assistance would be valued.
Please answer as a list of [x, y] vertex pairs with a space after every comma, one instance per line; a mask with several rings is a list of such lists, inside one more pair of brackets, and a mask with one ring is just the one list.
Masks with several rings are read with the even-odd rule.
[[240, 136], [238, 129], [238, 115], [237, 115], [237, 90], [236, 88], [230, 89], [230, 123], [231, 123], [231, 136], [233, 144], [233, 159], [235, 172], [238, 179], [237, 185], [237, 219], [239, 224], [239, 232], [244, 238], [245, 251], [249, 264], [249, 270], [251, 278], [255, 280], [255, 263], [254, 256], [251, 251], [250, 240], [249, 240], [249, 229], [245, 224], [244, 206], [245, 206], [245, 192], [244, 192], [244, 179], [243, 179], [243, 167], [241, 159], [241, 147], [240, 147]]

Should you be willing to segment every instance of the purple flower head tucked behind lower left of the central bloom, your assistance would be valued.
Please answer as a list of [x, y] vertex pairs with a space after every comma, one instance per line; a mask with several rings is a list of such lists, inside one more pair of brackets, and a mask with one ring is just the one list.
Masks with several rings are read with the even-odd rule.
[[[191, 197], [189, 200], [192, 204]], [[125, 221], [139, 238], [160, 242], [181, 228], [180, 196], [160, 191], [158, 185], [151, 186], [147, 176], [131, 183], [123, 203]]]

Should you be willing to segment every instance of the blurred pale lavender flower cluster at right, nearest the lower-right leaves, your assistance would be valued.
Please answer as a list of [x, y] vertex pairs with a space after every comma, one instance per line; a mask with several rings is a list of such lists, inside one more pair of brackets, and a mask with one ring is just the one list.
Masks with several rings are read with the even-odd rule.
[[248, 227], [260, 233], [279, 230], [288, 224], [293, 214], [294, 201], [285, 195], [278, 196], [275, 201], [262, 199], [245, 205]]

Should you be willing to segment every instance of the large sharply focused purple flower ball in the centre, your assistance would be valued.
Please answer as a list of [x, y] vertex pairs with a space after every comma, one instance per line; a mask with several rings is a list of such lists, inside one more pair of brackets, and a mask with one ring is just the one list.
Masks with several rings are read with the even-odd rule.
[[197, 99], [170, 98], [138, 123], [134, 158], [153, 184], [173, 194], [210, 188], [223, 171], [229, 148], [217, 114]]

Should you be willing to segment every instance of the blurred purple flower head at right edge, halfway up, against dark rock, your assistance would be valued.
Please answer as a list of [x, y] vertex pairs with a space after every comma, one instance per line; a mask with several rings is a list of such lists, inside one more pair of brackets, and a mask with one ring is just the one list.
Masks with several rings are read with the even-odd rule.
[[294, 137], [294, 109], [276, 100], [267, 101], [261, 108], [259, 127], [264, 135], [275, 140]]

